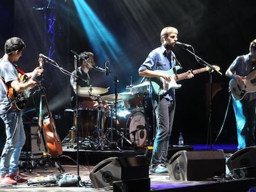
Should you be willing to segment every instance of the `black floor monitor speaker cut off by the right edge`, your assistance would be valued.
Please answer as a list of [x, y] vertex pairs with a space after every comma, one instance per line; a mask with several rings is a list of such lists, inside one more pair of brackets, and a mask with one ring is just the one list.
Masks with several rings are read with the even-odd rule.
[[227, 166], [229, 170], [242, 167], [256, 167], [256, 146], [240, 149], [229, 157]]

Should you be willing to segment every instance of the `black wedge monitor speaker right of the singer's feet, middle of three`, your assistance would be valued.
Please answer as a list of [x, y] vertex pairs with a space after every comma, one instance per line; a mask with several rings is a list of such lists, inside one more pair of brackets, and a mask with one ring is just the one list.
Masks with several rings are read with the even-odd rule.
[[198, 181], [223, 177], [226, 161], [220, 151], [178, 151], [168, 163], [169, 177], [174, 180]]

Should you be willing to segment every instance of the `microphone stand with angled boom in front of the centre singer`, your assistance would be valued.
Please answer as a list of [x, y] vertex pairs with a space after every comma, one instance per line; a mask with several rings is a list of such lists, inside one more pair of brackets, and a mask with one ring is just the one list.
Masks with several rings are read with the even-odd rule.
[[[188, 48], [190, 46], [186, 46], [186, 47], [182, 47], [183, 49], [185, 49], [187, 52], [189, 52], [190, 54], [192, 54], [195, 59], [197, 60], [198, 63], [202, 64], [202, 65], [205, 65], [205, 66], [208, 66], [210, 67], [211, 70], [217, 72], [219, 75], [223, 75], [221, 72], [219, 72], [218, 70], [216, 70], [213, 65], [211, 64], [208, 64], [206, 61], [204, 61], [202, 58], [198, 57], [196, 54], [195, 54], [195, 51], [194, 51], [194, 48], [191, 46], [191, 48], [193, 49], [193, 52], [190, 51]], [[211, 94], [212, 94], [212, 81], [213, 81], [213, 78], [212, 78], [212, 72], [211, 70], [209, 70], [209, 115], [208, 115], [208, 136], [210, 136], [210, 149], [212, 150], [213, 149], [213, 144], [212, 144], [212, 141], [211, 141], [211, 105], [212, 105], [212, 101], [211, 101]], [[208, 138], [207, 138], [208, 140]], [[207, 141], [208, 143], [208, 141]]]

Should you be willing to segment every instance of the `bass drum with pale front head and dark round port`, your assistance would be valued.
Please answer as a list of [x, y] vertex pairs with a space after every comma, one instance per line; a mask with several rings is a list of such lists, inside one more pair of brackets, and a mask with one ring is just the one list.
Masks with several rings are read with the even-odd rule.
[[[111, 120], [108, 119], [106, 121], [106, 128], [108, 129], [111, 127]], [[113, 117], [113, 127], [116, 128], [117, 133], [114, 135], [119, 135], [118, 137], [121, 138], [120, 133], [124, 133], [130, 141], [136, 143], [136, 146], [139, 148], [143, 148], [147, 143], [147, 129], [145, 129], [145, 115], [141, 111], [118, 111], [117, 112], [117, 120]], [[114, 139], [119, 139], [114, 136]]]

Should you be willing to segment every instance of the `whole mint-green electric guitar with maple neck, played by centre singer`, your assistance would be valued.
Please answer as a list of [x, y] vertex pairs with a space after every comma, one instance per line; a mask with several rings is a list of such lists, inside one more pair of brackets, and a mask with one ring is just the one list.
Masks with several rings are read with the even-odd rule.
[[[217, 65], [213, 65], [213, 67], [217, 71], [220, 70], [220, 67], [218, 67]], [[177, 65], [177, 66], [173, 67], [170, 70], [155, 70], [155, 71], [166, 73], [168, 75], [173, 75], [179, 69], [181, 69], [181, 67]], [[198, 74], [198, 73], [207, 72], [208, 70], [211, 70], [211, 68], [210, 67], [203, 67], [201, 69], [192, 70], [192, 73], [195, 75], [195, 74]], [[149, 80], [150, 80], [150, 84], [152, 86], [153, 92], [155, 94], [158, 94], [158, 95], [163, 95], [167, 91], [169, 91], [170, 89], [179, 89], [179, 88], [181, 88], [181, 84], [177, 84], [176, 80], [185, 79], [185, 78], [187, 78], [187, 75], [188, 75], [188, 72], [177, 74], [177, 75], [174, 76], [175, 79], [172, 79], [171, 81], [166, 81], [162, 77], [153, 77], [153, 78], [149, 78]]]

